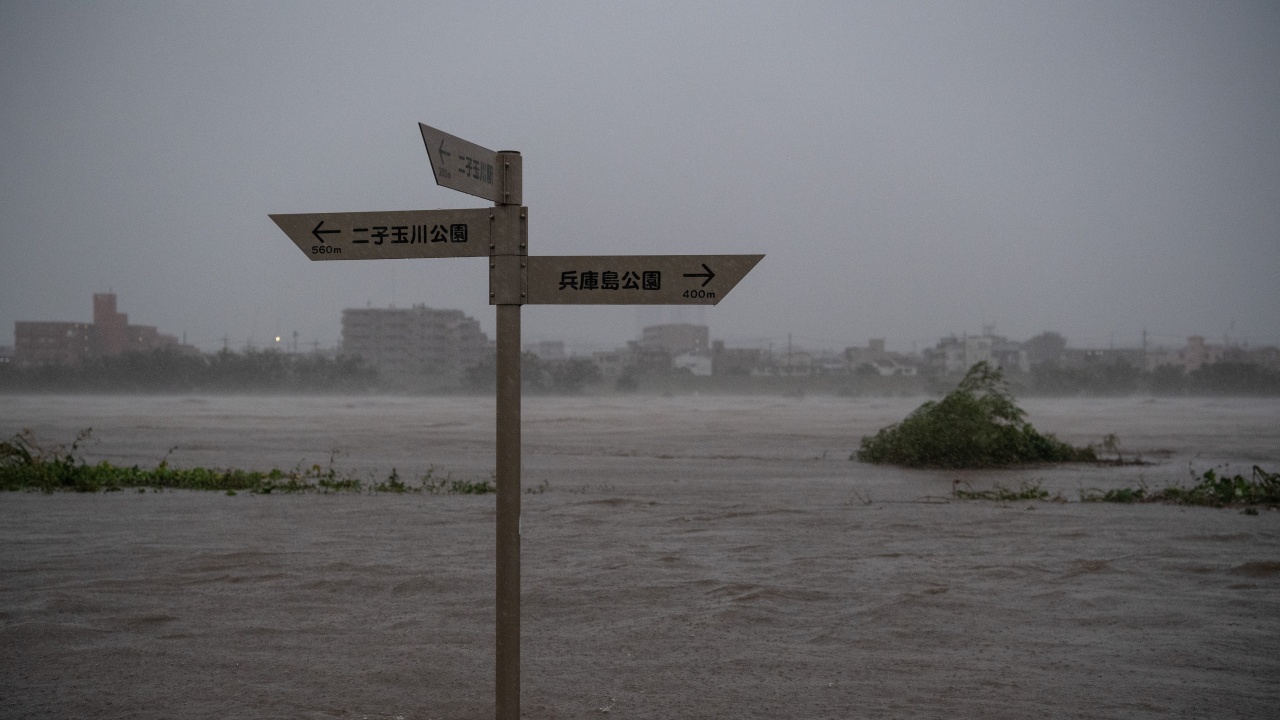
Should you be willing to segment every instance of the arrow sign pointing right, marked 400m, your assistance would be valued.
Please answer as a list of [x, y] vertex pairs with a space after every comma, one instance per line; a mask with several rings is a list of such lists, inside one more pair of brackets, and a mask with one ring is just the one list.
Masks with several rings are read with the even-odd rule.
[[531, 255], [531, 305], [716, 305], [764, 255]]

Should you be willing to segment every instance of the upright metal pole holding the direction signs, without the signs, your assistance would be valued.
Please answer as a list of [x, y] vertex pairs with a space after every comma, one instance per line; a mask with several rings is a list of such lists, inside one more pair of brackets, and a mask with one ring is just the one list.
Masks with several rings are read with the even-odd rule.
[[[521, 158], [498, 152], [502, 201], [494, 211], [489, 300], [498, 313], [497, 386], [497, 646], [498, 720], [520, 719], [520, 305], [525, 300], [527, 210], [521, 202]], [[520, 218], [512, 218], [516, 210]], [[518, 266], [517, 266], [518, 264]]]

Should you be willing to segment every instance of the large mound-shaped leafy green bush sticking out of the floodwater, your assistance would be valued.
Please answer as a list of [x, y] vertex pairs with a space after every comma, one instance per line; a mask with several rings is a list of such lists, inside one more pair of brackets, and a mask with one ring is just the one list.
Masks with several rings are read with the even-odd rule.
[[1028, 462], [1096, 461], [1093, 448], [1076, 448], [1041, 434], [1025, 419], [998, 368], [978, 363], [950, 395], [916, 407], [901, 423], [863, 437], [854, 454], [861, 462], [908, 468], [998, 468]]

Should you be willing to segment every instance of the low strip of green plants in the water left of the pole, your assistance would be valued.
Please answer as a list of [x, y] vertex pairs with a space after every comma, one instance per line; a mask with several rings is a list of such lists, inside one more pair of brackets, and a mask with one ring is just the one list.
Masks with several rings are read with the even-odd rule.
[[[485, 495], [495, 489], [493, 479], [461, 479], [451, 474], [436, 477], [429, 468], [417, 482], [406, 483], [396, 469], [384, 480], [367, 482], [334, 468], [334, 457], [328, 466], [311, 465], [292, 470], [271, 469], [234, 470], [207, 468], [173, 468], [168, 459], [154, 468], [137, 465], [122, 468], [108, 461], [90, 465], [79, 455], [81, 446], [91, 430], [81, 432], [69, 446], [45, 446], [36, 441], [31, 430], [22, 430], [6, 441], [0, 441], [0, 491], [73, 491], [111, 492], [125, 488], [146, 489], [204, 489], [227, 495], [241, 492], [268, 495], [273, 492], [392, 492], [426, 495]], [[536, 492], [544, 492], [540, 486]]]

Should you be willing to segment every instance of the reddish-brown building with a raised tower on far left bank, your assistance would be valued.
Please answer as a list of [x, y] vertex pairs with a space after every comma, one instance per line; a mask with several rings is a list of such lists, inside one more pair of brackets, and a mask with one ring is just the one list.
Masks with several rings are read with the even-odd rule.
[[115, 310], [115, 293], [93, 293], [92, 323], [17, 322], [13, 328], [15, 365], [77, 365], [91, 357], [178, 346], [178, 338], [155, 325], [131, 325]]

